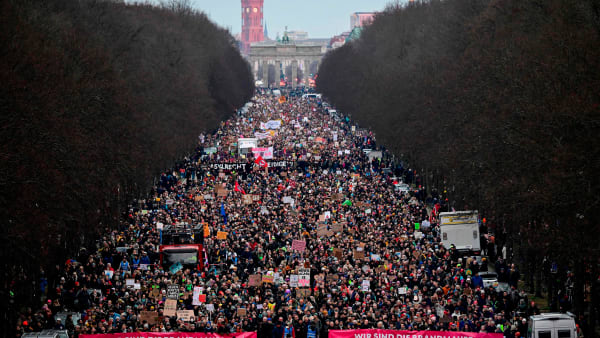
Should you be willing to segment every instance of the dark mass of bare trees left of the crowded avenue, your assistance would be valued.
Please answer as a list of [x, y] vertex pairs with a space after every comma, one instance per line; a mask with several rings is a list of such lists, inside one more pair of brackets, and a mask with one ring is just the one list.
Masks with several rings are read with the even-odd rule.
[[2, 1], [0, 49], [0, 301], [35, 305], [40, 268], [118, 224], [254, 83], [186, 1]]

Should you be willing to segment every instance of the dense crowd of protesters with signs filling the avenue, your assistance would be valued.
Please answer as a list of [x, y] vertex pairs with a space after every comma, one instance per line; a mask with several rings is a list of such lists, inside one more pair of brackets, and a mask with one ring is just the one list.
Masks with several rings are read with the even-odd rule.
[[[276, 120], [278, 128], [261, 129]], [[286, 166], [264, 169], [252, 153], [240, 154], [238, 139], [257, 132], [263, 135], [259, 146], [273, 147], [273, 161]], [[199, 143], [197, 153], [131, 206], [120, 229], [57, 267], [47, 304], [21, 315], [19, 334], [54, 328], [73, 336], [256, 331], [258, 337], [304, 338], [385, 328], [517, 337], [526, 334], [527, 316], [539, 313], [517, 290], [514, 265], [444, 248], [424, 190], [397, 189], [398, 163], [385, 149], [371, 158], [365, 151], [382, 150], [375, 136], [329, 113], [319, 100], [258, 95]], [[204, 152], [212, 147], [216, 152]], [[219, 170], [211, 163], [246, 166]], [[217, 189], [227, 189], [225, 197]], [[244, 195], [257, 198], [246, 203]], [[159, 263], [157, 224], [184, 223], [208, 227], [204, 267], [172, 273]], [[217, 239], [219, 231], [227, 238]], [[304, 241], [305, 249], [293, 250], [295, 240]], [[479, 272], [488, 265], [510, 290], [484, 287]], [[291, 286], [290, 276], [300, 268], [310, 269], [310, 287]], [[250, 286], [257, 274], [280, 278]], [[139, 287], [126, 285], [128, 279]], [[177, 307], [193, 310], [193, 321], [163, 315], [169, 285], [179, 286]], [[194, 287], [206, 297], [201, 305], [194, 305]], [[80, 319], [56, 321], [63, 311]], [[156, 311], [158, 319], [141, 320], [142, 311]]]

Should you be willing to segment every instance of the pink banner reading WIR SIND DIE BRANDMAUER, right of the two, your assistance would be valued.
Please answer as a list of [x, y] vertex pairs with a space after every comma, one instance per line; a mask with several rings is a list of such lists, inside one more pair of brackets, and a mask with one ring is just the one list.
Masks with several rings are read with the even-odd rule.
[[502, 333], [456, 331], [331, 330], [329, 338], [502, 338]]

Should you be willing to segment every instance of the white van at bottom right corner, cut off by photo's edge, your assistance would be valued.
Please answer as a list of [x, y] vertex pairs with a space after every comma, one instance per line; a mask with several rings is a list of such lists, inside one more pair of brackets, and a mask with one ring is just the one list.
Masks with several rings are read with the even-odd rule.
[[575, 318], [570, 313], [530, 316], [527, 338], [577, 338]]

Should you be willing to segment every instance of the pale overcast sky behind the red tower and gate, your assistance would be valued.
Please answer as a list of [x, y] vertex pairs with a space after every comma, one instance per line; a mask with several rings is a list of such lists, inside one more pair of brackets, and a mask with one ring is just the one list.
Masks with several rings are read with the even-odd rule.
[[[269, 37], [274, 39], [285, 26], [289, 30], [308, 32], [309, 38], [330, 38], [350, 30], [350, 14], [382, 11], [397, 0], [264, 0], [264, 19]], [[405, 1], [400, 0], [401, 3]], [[194, 8], [229, 28], [232, 34], [241, 30], [241, 0], [191, 0]]]

